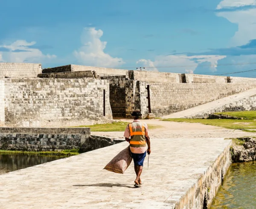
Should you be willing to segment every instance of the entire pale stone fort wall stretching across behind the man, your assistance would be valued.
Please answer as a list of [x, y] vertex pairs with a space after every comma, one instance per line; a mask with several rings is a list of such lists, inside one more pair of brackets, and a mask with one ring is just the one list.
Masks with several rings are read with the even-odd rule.
[[[16, 70], [23, 66], [25, 73], [33, 71], [32, 66], [41, 68], [39, 64], [9, 65], [15, 66], [13, 69]], [[12, 76], [23, 75], [19, 72], [14, 70]], [[148, 85], [151, 112], [156, 116], [186, 110], [256, 87], [255, 78], [80, 65], [44, 69], [38, 77], [0, 79], [0, 125], [3, 122], [23, 127], [89, 125], [109, 122], [112, 116], [130, 117], [134, 109], [140, 109], [146, 116]]]

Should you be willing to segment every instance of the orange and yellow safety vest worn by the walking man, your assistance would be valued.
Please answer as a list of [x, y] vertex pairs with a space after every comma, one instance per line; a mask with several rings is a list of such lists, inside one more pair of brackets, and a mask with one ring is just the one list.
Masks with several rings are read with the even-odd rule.
[[129, 130], [131, 135], [130, 146], [145, 147], [145, 124], [142, 122], [132, 122], [129, 124]]

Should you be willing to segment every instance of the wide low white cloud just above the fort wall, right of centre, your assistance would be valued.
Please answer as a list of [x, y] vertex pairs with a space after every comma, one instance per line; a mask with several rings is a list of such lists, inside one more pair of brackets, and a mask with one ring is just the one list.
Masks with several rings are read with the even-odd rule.
[[144, 64], [139, 67], [150, 67], [146, 70], [158, 71], [157, 67], [170, 67], [172, 71], [177, 73], [193, 73], [198, 67], [198, 64], [209, 62], [211, 63], [210, 70], [212, 72], [216, 71], [218, 60], [226, 58], [226, 56], [221, 55], [168, 55], [168, 56], [157, 56], [155, 61], [140, 59], [137, 64]]

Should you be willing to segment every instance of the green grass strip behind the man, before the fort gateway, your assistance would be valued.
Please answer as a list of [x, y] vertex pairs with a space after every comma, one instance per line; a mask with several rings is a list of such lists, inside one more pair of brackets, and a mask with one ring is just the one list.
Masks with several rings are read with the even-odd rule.
[[[106, 124], [96, 124], [96, 125], [81, 125], [76, 126], [73, 128], [90, 128], [91, 131], [125, 131], [125, 128], [127, 127], [128, 122], [113, 122], [113, 123], [106, 123]], [[160, 128], [160, 125], [148, 125], [149, 129], [155, 129]]]

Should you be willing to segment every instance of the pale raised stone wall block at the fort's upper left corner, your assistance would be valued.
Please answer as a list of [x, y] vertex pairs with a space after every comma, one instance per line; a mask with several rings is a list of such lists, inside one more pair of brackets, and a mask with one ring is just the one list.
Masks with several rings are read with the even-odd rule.
[[41, 64], [0, 62], [0, 77], [37, 77], [39, 73]]

